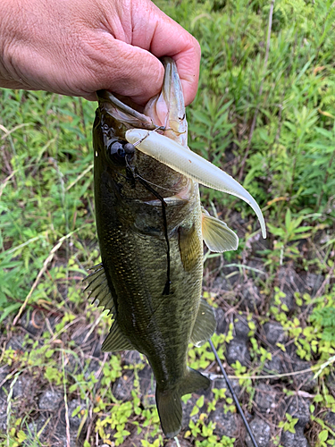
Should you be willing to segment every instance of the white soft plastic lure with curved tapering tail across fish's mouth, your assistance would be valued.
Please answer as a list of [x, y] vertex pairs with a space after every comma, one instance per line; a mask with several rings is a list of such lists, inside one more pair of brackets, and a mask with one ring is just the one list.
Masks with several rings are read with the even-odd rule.
[[126, 139], [131, 144], [136, 144], [136, 148], [147, 156], [152, 156], [155, 160], [166, 164], [193, 181], [214, 190], [227, 192], [247, 202], [255, 211], [261, 224], [262, 235], [264, 239], [266, 238], [266, 228], [261, 208], [255, 198], [228, 173], [205, 160], [202, 156], [198, 156], [189, 148], [184, 148], [177, 141], [164, 137], [155, 131], [130, 129], [126, 132]]

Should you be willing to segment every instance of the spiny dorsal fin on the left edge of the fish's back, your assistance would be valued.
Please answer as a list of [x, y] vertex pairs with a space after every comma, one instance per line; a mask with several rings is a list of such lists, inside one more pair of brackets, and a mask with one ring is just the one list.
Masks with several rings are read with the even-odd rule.
[[83, 280], [89, 282], [88, 286], [85, 289], [85, 291], [90, 291], [88, 299], [93, 298], [92, 304], [97, 299], [99, 301], [99, 307], [104, 307], [104, 310], [109, 309], [109, 313], [113, 314], [114, 302], [112, 293], [107, 283], [103, 264], [97, 264], [89, 270], [93, 270], [93, 272], [91, 274], [88, 274], [88, 276]]

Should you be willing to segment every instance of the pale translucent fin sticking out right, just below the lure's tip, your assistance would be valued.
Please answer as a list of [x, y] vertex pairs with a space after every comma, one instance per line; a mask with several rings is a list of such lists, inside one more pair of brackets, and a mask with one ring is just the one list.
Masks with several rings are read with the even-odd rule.
[[202, 230], [205, 245], [211, 251], [236, 250], [239, 247], [238, 236], [230, 230], [226, 223], [209, 215], [205, 209], [202, 215]]

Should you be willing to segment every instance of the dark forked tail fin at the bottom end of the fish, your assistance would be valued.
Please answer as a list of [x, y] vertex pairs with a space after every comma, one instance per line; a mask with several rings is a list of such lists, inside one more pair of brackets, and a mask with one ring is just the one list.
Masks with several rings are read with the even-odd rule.
[[195, 369], [188, 369], [188, 374], [176, 388], [167, 391], [156, 389], [155, 401], [163, 433], [167, 438], [173, 438], [180, 433], [182, 409], [181, 396], [196, 392], [200, 388], [208, 388], [210, 380]]

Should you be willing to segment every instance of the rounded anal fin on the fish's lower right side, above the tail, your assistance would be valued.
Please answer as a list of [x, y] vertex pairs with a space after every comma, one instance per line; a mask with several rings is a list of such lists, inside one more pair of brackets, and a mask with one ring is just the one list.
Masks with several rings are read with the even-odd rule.
[[205, 299], [201, 299], [190, 341], [199, 347], [212, 337], [215, 329], [214, 308], [206, 303]]

